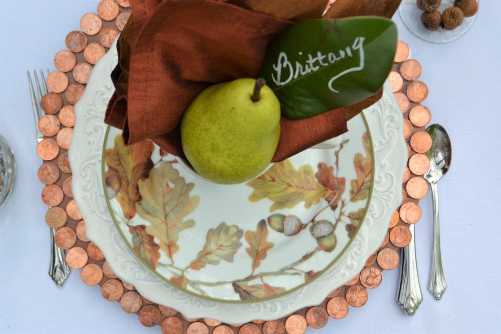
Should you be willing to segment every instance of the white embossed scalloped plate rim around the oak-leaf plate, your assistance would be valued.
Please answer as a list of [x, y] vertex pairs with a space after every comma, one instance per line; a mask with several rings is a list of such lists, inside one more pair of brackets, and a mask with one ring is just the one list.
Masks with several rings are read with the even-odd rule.
[[[73, 192], [87, 223], [87, 235], [100, 247], [121, 279], [132, 283], [144, 297], [175, 308], [189, 318], [207, 317], [226, 323], [243, 323], [256, 318], [277, 319], [300, 308], [319, 304], [333, 289], [360, 272], [386, 235], [390, 218], [402, 198], [401, 180], [407, 149], [402, 135], [402, 114], [388, 83], [383, 98], [364, 111], [372, 135], [375, 174], [365, 220], [351, 244], [332, 266], [309, 284], [274, 299], [234, 303], [234, 300], [208, 300], [194, 295], [193, 291], [182, 291], [166, 283], [134, 255], [115, 226], [102, 186], [102, 152], [107, 132], [104, 113], [114, 92], [109, 74], [117, 61], [116, 48], [112, 46], [95, 66], [85, 94], [75, 106], [77, 120], [69, 158], [73, 166]], [[349, 129], [356, 129], [360, 136], [363, 134], [361, 118], [358, 116], [348, 123]]]

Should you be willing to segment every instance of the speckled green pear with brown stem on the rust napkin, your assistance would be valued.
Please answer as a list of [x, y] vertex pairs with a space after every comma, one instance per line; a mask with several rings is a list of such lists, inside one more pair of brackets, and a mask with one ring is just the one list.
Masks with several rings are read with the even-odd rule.
[[263, 79], [210, 86], [181, 119], [181, 143], [195, 171], [212, 182], [235, 184], [258, 176], [280, 138], [280, 102]]

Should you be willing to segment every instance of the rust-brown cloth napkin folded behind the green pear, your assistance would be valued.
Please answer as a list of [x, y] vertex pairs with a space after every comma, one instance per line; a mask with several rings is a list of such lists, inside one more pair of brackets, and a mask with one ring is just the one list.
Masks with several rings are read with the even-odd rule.
[[[338, 2], [344, 6], [346, 0], [337, 0], [331, 11]], [[148, 138], [183, 157], [179, 123], [191, 100], [209, 85], [256, 78], [269, 43], [295, 21], [320, 18], [327, 0], [130, 0], [130, 5], [112, 73], [116, 94], [105, 122], [123, 130], [127, 145]], [[346, 132], [346, 122], [381, 93], [303, 120], [282, 117], [273, 161]]]

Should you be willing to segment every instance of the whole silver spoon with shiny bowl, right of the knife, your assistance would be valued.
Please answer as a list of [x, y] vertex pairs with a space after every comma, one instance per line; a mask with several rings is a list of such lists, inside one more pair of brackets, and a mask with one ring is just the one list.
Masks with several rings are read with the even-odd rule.
[[449, 170], [452, 151], [449, 136], [441, 125], [433, 124], [426, 129], [426, 132], [431, 136], [432, 145], [428, 152], [426, 152], [426, 156], [430, 159], [430, 169], [426, 172], [424, 178], [431, 186], [434, 217], [433, 257], [431, 259], [428, 290], [433, 293], [435, 299], [440, 300], [445, 292], [445, 289], [447, 288], [447, 283], [445, 282], [445, 277], [443, 275], [442, 256], [440, 254], [437, 183], [438, 180], [440, 180]]

